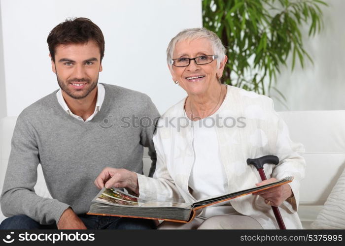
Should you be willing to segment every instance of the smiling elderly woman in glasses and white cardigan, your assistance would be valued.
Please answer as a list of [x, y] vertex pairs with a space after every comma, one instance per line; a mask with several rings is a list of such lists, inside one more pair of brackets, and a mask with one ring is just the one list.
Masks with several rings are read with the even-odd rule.
[[[184, 30], [171, 40], [169, 69], [187, 97], [158, 122], [153, 178], [105, 168], [95, 184], [126, 187], [146, 200], [193, 203], [293, 176], [292, 183], [208, 207], [188, 224], [163, 222], [160, 228], [277, 229], [270, 207], [277, 206], [286, 228], [300, 229], [297, 206], [305, 171], [303, 146], [290, 140], [270, 98], [219, 82], [227, 63], [225, 51], [217, 35], [206, 29]], [[246, 159], [267, 154], [277, 155], [280, 162], [266, 164], [270, 179], [260, 182]]]

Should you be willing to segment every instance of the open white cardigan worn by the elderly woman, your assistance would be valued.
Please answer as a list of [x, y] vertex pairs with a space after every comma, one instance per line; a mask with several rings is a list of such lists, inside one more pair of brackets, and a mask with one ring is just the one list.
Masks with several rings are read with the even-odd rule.
[[[184, 117], [184, 101], [171, 107], [158, 122], [153, 137], [157, 153], [156, 171], [153, 178], [138, 174], [140, 198], [195, 202], [188, 190], [194, 161], [193, 129]], [[297, 208], [300, 181], [305, 173], [305, 160], [301, 156], [304, 147], [290, 140], [286, 124], [274, 111], [272, 99], [227, 86], [227, 95], [218, 115], [220, 120], [215, 129], [228, 178], [228, 192], [250, 188], [261, 182], [256, 168], [246, 164], [247, 158], [276, 155], [280, 160], [278, 165], [264, 165], [266, 177], [294, 177], [289, 184], [294, 199], [284, 201], [279, 210], [287, 229], [302, 229]], [[232, 119], [236, 119], [236, 125], [227, 127], [233, 125]], [[211, 172], [212, 163], [209, 165]], [[238, 213], [256, 219], [264, 229], [278, 229], [273, 211], [262, 197], [242, 196], [231, 200], [231, 205]]]

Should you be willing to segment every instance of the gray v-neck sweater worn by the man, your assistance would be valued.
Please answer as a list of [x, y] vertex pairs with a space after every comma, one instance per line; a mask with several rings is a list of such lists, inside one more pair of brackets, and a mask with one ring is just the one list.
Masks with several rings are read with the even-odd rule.
[[[51, 224], [69, 206], [76, 214], [88, 212], [99, 191], [94, 181], [104, 167], [142, 174], [143, 146], [149, 147], [152, 175], [156, 107], [143, 93], [107, 84], [104, 88], [101, 110], [89, 122], [64, 111], [57, 91], [19, 115], [0, 198], [5, 216], [28, 215]], [[35, 194], [39, 163], [53, 199]]]

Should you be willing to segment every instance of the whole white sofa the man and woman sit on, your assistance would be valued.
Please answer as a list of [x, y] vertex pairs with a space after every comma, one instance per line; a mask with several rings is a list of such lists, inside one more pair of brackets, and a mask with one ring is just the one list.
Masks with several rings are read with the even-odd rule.
[[[303, 227], [310, 229], [345, 167], [345, 111], [290, 111], [279, 114], [289, 126], [291, 139], [303, 143], [306, 148], [307, 172], [301, 183], [298, 214]], [[6, 117], [0, 123], [0, 190], [15, 122], [16, 117]], [[147, 154], [143, 161], [147, 175], [150, 165]], [[40, 196], [50, 197], [40, 165], [35, 191]], [[0, 212], [0, 222], [4, 218]]]

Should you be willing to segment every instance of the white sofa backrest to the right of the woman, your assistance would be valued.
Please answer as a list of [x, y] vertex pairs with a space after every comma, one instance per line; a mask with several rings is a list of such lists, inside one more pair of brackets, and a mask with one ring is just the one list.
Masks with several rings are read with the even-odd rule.
[[306, 148], [300, 205], [323, 205], [345, 167], [345, 110], [279, 112]]

